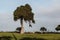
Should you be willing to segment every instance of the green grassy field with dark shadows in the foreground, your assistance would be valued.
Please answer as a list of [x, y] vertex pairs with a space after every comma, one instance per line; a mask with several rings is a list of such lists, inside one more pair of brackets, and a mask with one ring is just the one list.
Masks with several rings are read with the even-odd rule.
[[8, 40], [60, 40], [60, 34], [0, 33], [0, 40], [1, 38], [9, 38]]

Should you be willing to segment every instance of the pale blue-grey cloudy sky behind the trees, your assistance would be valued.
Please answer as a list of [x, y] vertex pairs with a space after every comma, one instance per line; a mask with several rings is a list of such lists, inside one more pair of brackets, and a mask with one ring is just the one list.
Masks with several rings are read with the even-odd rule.
[[60, 0], [0, 0], [0, 31], [14, 31], [20, 26], [19, 20], [13, 20], [13, 12], [26, 3], [32, 7], [36, 23], [32, 28], [24, 23], [25, 31], [39, 31], [43, 26], [55, 31], [60, 24]]

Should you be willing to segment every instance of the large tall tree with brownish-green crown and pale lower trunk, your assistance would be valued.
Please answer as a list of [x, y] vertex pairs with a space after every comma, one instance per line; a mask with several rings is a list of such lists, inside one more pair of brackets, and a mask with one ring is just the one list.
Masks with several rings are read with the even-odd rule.
[[31, 22], [35, 23], [34, 21], [34, 13], [32, 12], [32, 8], [29, 4], [25, 4], [24, 6], [21, 5], [20, 7], [17, 7], [17, 9], [14, 11], [14, 21], [17, 21], [20, 19], [21, 23], [21, 34], [24, 33], [24, 27], [23, 27], [23, 21], [28, 21], [29, 26], [32, 27]]

